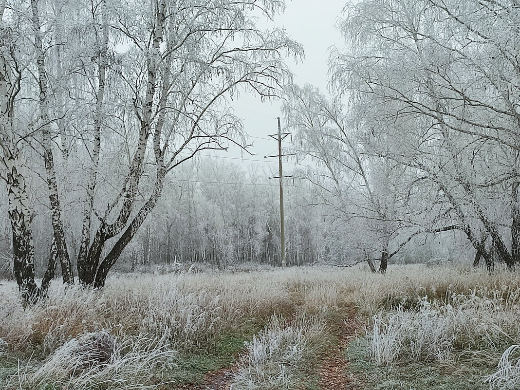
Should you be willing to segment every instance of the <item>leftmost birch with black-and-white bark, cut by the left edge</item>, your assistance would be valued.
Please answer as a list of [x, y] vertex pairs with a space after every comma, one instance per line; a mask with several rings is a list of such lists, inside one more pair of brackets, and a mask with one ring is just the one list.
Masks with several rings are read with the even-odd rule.
[[[34, 280], [34, 239], [31, 227], [34, 210], [28, 196], [28, 167], [24, 161], [27, 154], [23, 151], [32, 139], [35, 126], [35, 121], [27, 114], [27, 105], [22, 102], [28, 93], [23, 82], [28, 77], [27, 70], [32, 63], [27, 52], [27, 47], [31, 47], [31, 31], [24, 23], [27, 19], [17, 8], [19, 6], [19, 3], [10, 2], [0, 5], [0, 142], [5, 168], [2, 178], [6, 183], [9, 200], [13, 269], [22, 296], [31, 302], [45, 294], [54, 277], [57, 245], [54, 241], [51, 244], [47, 269], [38, 288]], [[63, 279], [71, 281], [67, 269]]]

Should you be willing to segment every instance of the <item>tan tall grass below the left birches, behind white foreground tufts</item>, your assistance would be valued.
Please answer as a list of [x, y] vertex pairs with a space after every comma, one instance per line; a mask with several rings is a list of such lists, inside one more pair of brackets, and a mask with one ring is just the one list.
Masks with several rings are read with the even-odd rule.
[[14, 288], [4, 288], [0, 334], [10, 352], [43, 356], [72, 337], [102, 329], [155, 337], [168, 331], [176, 348], [208, 348], [227, 329], [292, 308], [281, 284], [241, 278], [227, 283], [229, 277], [207, 275], [116, 277], [100, 291], [54, 283], [47, 300], [28, 310]]

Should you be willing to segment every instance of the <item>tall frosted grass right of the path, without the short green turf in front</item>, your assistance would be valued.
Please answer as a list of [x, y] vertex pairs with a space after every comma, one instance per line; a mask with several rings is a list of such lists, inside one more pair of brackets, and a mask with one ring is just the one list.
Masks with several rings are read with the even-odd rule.
[[498, 367], [488, 378], [490, 388], [519, 388], [518, 282], [514, 272], [449, 268], [384, 280], [386, 291], [358, 301], [373, 315], [367, 321], [369, 358], [381, 366], [465, 361]]

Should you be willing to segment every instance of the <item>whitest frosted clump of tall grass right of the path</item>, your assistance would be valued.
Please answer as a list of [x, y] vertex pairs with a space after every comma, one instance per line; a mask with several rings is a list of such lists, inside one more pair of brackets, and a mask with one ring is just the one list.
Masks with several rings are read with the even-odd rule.
[[387, 366], [455, 357], [496, 360], [520, 339], [520, 306], [476, 292], [449, 297], [448, 302], [425, 299], [416, 309], [375, 316], [368, 333], [372, 360]]

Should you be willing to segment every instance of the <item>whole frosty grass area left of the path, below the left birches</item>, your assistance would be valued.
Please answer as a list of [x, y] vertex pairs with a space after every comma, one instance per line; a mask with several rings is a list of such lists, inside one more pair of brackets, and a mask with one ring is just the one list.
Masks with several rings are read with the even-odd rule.
[[[328, 287], [321, 288], [323, 283]], [[308, 324], [316, 321], [318, 313], [322, 318], [328, 308], [344, 304], [340, 302], [346, 296], [340, 293], [342, 285], [344, 277], [322, 269], [119, 275], [109, 279], [107, 287], [100, 291], [66, 288], [55, 282], [47, 300], [24, 310], [15, 285], [6, 283], [0, 287], [0, 338], [9, 358], [0, 360], [4, 381], [0, 388], [14, 390], [20, 383], [20, 388], [61, 389], [68, 381], [67, 388], [101, 389], [103, 375], [120, 383], [118, 388], [122, 389], [161, 383], [162, 388], [177, 388], [183, 383], [200, 382], [208, 371], [232, 365], [238, 354], [249, 348], [244, 343], [257, 340], [255, 333], [266, 324], [263, 332], [272, 335], [267, 329], [274, 324], [273, 318], [281, 324], [308, 313], [313, 316], [305, 322]], [[306, 325], [305, 331], [298, 329], [305, 338], [303, 333], [311, 328]], [[55, 370], [61, 367], [55, 363], [63, 360], [57, 357], [63, 356], [63, 345], [74, 337], [97, 331], [107, 331], [123, 344], [127, 340], [142, 339], [145, 345], [146, 340], [167, 340], [171, 355], [166, 357], [163, 349], [125, 348], [118, 359], [96, 370], [81, 374], [69, 368]], [[266, 336], [258, 337], [265, 340]], [[307, 347], [309, 343], [305, 348], [298, 346], [305, 349], [300, 350], [304, 354]], [[154, 356], [159, 361], [155, 362]], [[15, 365], [13, 357], [20, 359]], [[275, 354], [273, 361], [277, 357]], [[165, 360], [167, 368], [159, 366]], [[146, 381], [126, 371], [142, 373], [136, 367], [148, 364], [144, 362], [155, 367], [145, 370], [152, 371]], [[160, 372], [154, 373], [159, 367]], [[127, 382], [120, 381], [118, 375]], [[44, 384], [45, 376], [48, 383]]]

